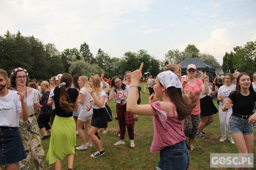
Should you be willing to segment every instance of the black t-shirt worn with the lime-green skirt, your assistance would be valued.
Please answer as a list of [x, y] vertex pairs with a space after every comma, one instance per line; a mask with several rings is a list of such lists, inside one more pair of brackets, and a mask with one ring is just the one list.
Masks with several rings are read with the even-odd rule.
[[[70, 103], [75, 103], [79, 92], [75, 88], [69, 88], [67, 90], [67, 92], [68, 92], [68, 96], [69, 96], [69, 98], [67, 97], [67, 101], [70, 102]], [[59, 105], [59, 96], [60, 96], [60, 88], [55, 87], [53, 100], [54, 100], [54, 104], [55, 104], [56, 115], [59, 116], [59, 117], [72, 117], [73, 112], [66, 113], [60, 107], [60, 105]]]

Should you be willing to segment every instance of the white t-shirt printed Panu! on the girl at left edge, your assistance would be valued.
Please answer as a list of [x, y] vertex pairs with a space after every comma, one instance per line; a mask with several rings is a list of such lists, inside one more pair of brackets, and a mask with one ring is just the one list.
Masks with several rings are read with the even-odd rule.
[[0, 97], [0, 126], [18, 127], [19, 113], [22, 112], [17, 91], [8, 90], [8, 94]]

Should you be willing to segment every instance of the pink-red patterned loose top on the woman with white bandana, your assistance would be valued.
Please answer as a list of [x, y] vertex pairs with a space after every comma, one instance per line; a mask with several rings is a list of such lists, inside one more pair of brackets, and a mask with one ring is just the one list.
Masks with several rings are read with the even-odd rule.
[[[171, 101], [169, 101], [172, 103]], [[161, 108], [160, 102], [153, 102], [151, 107], [156, 111], [153, 116], [154, 138], [150, 148], [151, 153], [158, 152], [165, 147], [186, 140], [183, 132], [183, 120], [178, 119], [175, 105], [173, 105], [174, 117], [167, 116], [167, 112]]]

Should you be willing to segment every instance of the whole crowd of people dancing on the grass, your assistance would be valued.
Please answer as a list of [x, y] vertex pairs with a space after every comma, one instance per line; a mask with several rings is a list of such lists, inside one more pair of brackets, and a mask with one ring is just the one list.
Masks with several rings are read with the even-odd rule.
[[[239, 153], [252, 153], [256, 72], [254, 81], [249, 74], [236, 70], [225, 75], [225, 84], [217, 75], [211, 84], [206, 72], [197, 70], [194, 64], [188, 65], [184, 78], [180, 65], [168, 64], [156, 78], [150, 75], [148, 87], [143, 90], [138, 86], [142, 68], [143, 63], [139, 69], [126, 72], [123, 81], [119, 77], [105, 79], [103, 73], [90, 78], [63, 73], [41, 84], [29, 82], [24, 68], [13, 69], [10, 76], [0, 69], [0, 170], [3, 166], [6, 170], [29, 169], [31, 157], [35, 170], [44, 169], [44, 159], [60, 170], [65, 157], [72, 170], [75, 150], [87, 150], [93, 144], [97, 151], [90, 156], [104, 155], [99, 133], [101, 129], [108, 132], [107, 108], [113, 99], [119, 125], [119, 140], [114, 146], [125, 145], [127, 128], [130, 147], [134, 148], [137, 116], [152, 116], [154, 137], [150, 152], [160, 151], [158, 170], [188, 169], [188, 150], [196, 151], [195, 138], [206, 136], [204, 129], [217, 112], [219, 141], [224, 142], [228, 134]], [[140, 104], [140, 91], [145, 93], [146, 88], [148, 104]], [[218, 109], [212, 101], [215, 95]], [[82, 142], [79, 147], [75, 147], [76, 134]], [[50, 141], [45, 154], [41, 141], [47, 138]]]

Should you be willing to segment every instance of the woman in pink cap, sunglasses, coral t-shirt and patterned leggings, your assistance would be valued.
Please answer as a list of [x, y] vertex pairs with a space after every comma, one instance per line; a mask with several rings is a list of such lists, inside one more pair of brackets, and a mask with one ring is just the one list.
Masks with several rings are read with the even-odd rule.
[[[187, 66], [187, 77], [181, 79], [181, 83], [183, 85], [183, 91], [184, 89], [188, 89], [190, 92], [193, 92], [196, 96], [200, 95], [200, 92], [202, 91], [204, 95], [209, 94], [209, 86], [208, 86], [208, 80], [209, 77], [206, 74], [203, 74], [203, 80], [204, 83], [195, 78], [197, 74], [197, 68], [194, 64], [189, 64]], [[197, 134], [198, 126], [200, 123], [200, 100], [198, 99], [196, 107], [191, 112], [191, 116], [187, 117], [184, 120], [184, 133], [186, 137], [188, 137], [188, 146], [190, 150], [195, 151], [195, 147], [193, 146], [194, 139]]]

